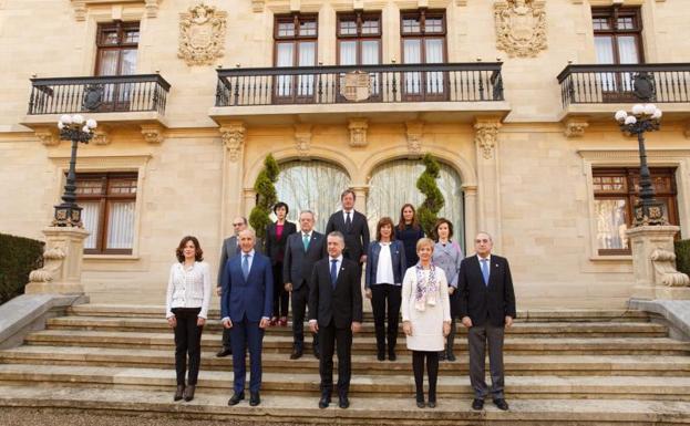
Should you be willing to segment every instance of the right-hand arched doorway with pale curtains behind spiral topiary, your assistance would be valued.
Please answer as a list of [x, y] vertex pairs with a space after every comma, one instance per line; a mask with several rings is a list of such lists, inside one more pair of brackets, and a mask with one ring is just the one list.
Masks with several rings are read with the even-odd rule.
[[[416, 179], [424, 172], [421, 160], [397, 159], [384, 163], [377, 167], [369, 181], [369, 196], [367, 197], [367, 218], [371, 237], [374, 238], [377, 221], [383, 216], [390, 216], [393, 222], [400, 220], [400, 208], [405, 202], [419, 206], [424, 200], [424, 195], [416, 189]], [[464, 250], [464, 209], [462, 183], [457, 172], [445, 163], [441, 163], [441, 176], [436, 180], [445, 205], [439, 212], [439, 217], [445, 217], [453, 222], [453, 239]]]

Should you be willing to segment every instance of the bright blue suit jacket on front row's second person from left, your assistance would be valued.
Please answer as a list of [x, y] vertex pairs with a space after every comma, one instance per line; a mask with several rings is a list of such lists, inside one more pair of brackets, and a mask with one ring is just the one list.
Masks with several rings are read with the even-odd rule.
[[250, 322], [270, 318], [274, 310], [274, 274], [270, 260], [254, 252], [251, 269], [247, 280], [241, 272], [241, 256], [230, 258], [223, 273], [223, 295], [220, 297], [220, 318], [233, 322]]

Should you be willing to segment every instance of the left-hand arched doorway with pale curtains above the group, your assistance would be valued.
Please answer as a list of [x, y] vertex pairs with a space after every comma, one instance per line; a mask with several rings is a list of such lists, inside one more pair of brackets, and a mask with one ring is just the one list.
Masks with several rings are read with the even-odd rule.
[[278, 200], [290, 206], [289, 220], [297, 222], [299, 212], [309, 209], [317, 216], [316, 230], [323, 232], [329, 216], [340, 209], [340, 193], [350, 186], [346, 170], [322, 160], [292, 160], [279, 167], [276, 191]]

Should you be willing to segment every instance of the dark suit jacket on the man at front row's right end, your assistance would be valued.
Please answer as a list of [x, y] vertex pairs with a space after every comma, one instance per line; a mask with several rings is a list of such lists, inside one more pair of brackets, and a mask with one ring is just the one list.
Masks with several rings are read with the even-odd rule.
[[470, 316], [474, 325], [488, 322], [503, 326], [505, 316], [516, 316], [515, 291], [508, 261], [491, 254], [488, 285], [484, 284], [482, 267], [476, 254], [463, 259], [457, 276], [460, 318]]

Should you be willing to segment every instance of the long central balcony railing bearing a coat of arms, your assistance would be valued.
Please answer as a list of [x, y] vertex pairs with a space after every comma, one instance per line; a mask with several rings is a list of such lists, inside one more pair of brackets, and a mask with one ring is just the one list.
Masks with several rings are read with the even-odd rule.
[[503, 101], [501, 63], [218, 70], [216, 106]]

